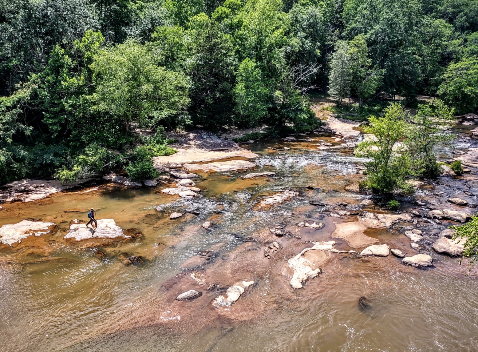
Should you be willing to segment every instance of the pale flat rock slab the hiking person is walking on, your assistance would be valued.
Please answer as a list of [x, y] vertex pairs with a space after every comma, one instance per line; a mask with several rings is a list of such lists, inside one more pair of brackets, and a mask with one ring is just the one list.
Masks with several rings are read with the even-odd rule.
[[[98, 219], [98, 227], [93, 228], [91, 225], [87, 227], [86, 224], [72, 223], [70, 231], [66, 234], [64, 239], [74, 238], [76, 241], [88, 240], [91, 238], [131, 238], [131, 236], [123, 234], [123, 230], [116, 225], [113, 219]], [[79, 220], [73, 220], [79, 222]]]

